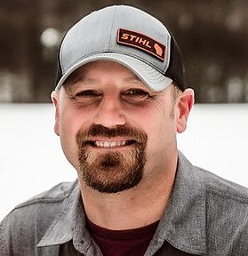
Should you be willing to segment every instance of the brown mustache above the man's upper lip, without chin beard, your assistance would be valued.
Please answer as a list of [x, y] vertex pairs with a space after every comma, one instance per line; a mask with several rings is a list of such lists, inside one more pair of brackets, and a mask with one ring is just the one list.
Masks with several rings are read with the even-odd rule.
[[104, 136], [107, 138], [128, 137], [138, 143], [146, 143], [148, 140], [146, 132], [128, 125], [118, 125], [114, 128], [107, 128], [101, 124], [92, 124], [87, 130], [77, 132], [76, 141], [79, 145], [82, 145], [86, 143], [89, 138], [96, 136]]

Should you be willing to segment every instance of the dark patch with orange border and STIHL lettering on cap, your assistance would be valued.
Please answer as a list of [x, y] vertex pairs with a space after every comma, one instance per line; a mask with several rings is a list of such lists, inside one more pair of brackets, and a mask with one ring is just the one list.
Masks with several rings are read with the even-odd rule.
[[138, 32], [119, 28], [117, 31], [117, 43], [139, 48], [159, 60], [165, 60], [165, 45]]

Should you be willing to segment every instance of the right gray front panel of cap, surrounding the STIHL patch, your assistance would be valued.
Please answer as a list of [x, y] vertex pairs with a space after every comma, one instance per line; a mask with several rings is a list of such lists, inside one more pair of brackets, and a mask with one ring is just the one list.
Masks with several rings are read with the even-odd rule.
[[[128, 45], [117, 44], [117, 30], [124, 28], [151, 37], [166, 46], [165, 60], [158, 60], [140, 49]], [[146, 12], [129, 6], [116, 6], [115, 19], [112, 27], [110, 49], [115, 52], [124, 52], [129, 55], [137, 56], [140, 60], [153, 66], [158, 71], [164, 73], [169, 66], [170, 61], [170, 43], [171, 36], [164, 25]]]

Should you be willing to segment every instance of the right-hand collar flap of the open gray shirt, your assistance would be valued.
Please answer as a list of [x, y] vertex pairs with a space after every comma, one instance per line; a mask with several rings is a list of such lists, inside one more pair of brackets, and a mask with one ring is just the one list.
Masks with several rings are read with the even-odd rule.
[[[206, 254], [205, 189], [195, 167], [179, 152], [172, 195], [153, 241], [167, 240], [180, 251]], [[159, 245], [160, 243], [160, 245]]]

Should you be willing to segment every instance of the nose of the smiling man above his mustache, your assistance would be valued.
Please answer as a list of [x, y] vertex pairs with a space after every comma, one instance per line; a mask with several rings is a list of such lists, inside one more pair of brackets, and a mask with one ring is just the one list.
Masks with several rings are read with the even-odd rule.
[[114, 128], [126, 123], [124, 109], [119, 99], [114, 97], [103, 98], [98, 108], [95, 124]]

